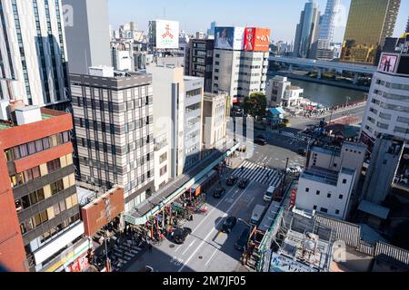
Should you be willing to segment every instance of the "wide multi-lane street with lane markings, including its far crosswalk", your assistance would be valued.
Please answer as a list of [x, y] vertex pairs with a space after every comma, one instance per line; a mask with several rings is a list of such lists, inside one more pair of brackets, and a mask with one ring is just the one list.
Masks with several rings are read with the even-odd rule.
[[[243, 167], [243, 169], [241, 169]], [[175, 245], [165, 239], [152, 253], [145, 253], [127, 271], [139, 271], [145, 266], [152, 266], [159, 272], [232, 272], [244, 271], [240, 258], [242, 252], [234, 248], [240, 237], [244, 222], [238, 221], [233, 231], [227, 235], [219, 232], [224, 218], [234, 216], [249, 222], [253, 209], [257, 204], [264, 205], [264, 192], [270, 185], [277, 186], [279, 174], [274, 169], [264, 169], [262, 164], [244, 161], [242, 165], [230, 171], [239, 178], [246, 178], [250, 183], [246, 189], [239, 189], [237, 184], [228, 187], [223, 181], [226, 194], [222, 199], [213, 198], [211, 189], [207, 193], [207, 216], [195, 215], [185, 227], [193, 230], [184, 245]], [[227, 177], [227, 176], [225, 176]]]

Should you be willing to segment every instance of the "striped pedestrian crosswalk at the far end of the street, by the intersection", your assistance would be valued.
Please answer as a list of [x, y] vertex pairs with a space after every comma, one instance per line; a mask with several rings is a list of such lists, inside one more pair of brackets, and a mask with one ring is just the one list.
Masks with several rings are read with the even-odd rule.
[[241, 167], [233, 170], [232, 176], [274, 187], [277, 187], [281, 182], [281, 177], [277, 170], [264, 168], [263, 165], [247, 160], [244, 161]]

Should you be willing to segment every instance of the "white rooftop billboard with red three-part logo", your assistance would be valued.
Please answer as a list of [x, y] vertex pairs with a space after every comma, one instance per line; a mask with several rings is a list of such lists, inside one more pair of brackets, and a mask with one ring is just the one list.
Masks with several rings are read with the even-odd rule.
[[156, 20], [156, 48], [179, 48], [179, 23], [177, 21]]

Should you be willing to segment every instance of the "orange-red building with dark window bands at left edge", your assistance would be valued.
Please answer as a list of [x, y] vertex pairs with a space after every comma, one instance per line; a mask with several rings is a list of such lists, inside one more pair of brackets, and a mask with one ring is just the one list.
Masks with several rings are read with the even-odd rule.
[[0, 264], [61, 271], [66, 256], [74, 261], [89, 247], [75, 188], [72, 116], [5, 100], [0, 109]]

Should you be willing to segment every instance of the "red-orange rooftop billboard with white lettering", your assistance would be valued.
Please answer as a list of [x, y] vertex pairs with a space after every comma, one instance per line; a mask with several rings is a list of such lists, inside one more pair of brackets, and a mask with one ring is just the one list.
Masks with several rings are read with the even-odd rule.
[[270, 50], [270, 29], [247, 27], [244, 30], [244, 51], [268, 52]]

